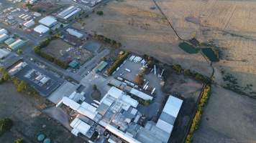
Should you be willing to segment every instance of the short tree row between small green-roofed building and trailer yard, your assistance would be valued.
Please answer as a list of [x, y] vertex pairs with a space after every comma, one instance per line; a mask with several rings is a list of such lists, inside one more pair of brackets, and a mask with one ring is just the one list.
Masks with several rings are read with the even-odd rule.
[[124, 54], [117, 56], [116, 61], [114, 61], [114, 64], [112, 64], [109, 69], [106, 69], [106, 74], [110, 76], [118, 66], [120, 66], [125, 59], [127, 59], [127, 56], [129, 55], [128, 51], [125, 51]]

